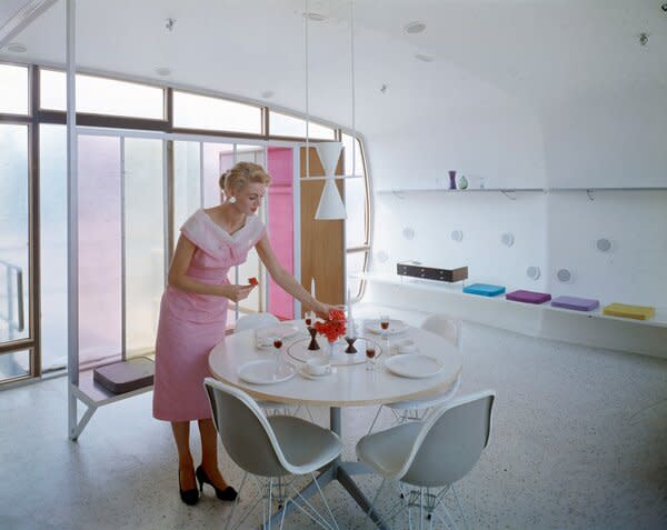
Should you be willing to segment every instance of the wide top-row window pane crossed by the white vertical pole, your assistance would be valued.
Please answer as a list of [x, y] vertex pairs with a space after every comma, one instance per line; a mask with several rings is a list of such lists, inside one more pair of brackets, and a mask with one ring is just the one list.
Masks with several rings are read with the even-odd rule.
[[[40, 107], [67, 110], [62, 71], [40, 70]], [[116, 79], [77, 74], [77, 112], [165, 119], [165, 90]]]

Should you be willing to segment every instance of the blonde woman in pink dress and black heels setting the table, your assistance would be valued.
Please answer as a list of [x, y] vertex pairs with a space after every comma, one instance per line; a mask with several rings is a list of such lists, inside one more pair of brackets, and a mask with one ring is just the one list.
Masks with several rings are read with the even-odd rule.
[[[198, 210], [181, 227], [168, 286], [160, 304], [156, 343], [153, 417], [171, 422], [179, 459], [181, 500], [199, 500], [196, 480], [212, 486], [218, 498], [236, 499], [218, 469], [217, 432], [203, 390], [210, 376], [208, 354], [225, 339], [227, 304], [248, 297], [255, 286], [231, 284], [229, 269], [257, 253], [282, 289], [306, 308], [327, 317], [331, 306], [312, 298], [278, 262], [266, 228], [256, 216], [271, 179], [261, 166], [239, 162], [220, 179], [227, 200]], [[223, 186], [222, 186], [223, 182]], [[190, 421], [201, 436], [201, 464], [195, 470], [190, 453]]]

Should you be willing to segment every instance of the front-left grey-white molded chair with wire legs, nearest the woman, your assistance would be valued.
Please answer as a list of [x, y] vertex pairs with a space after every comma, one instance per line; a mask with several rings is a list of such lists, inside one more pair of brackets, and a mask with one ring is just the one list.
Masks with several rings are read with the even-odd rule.
[[[342, 449], [340, 438], [330, 430], [301, 418], [291, 416], [267, 418], [250, 396], [216, 379], [206, 378], [203, 386], [222, 446], [225, 446], [236, 464], [246, 472], [226, 528], [229, 528], [232, 522], [233, 512], [241, 497], [248, 473], [250, 473], [266, 479], [267, 483], [250, 501], [250, 506], [240, 517], [235, 528], [241, 527], [259, 502], [263, 501], [262, 528], [270, 529], [273, 502], [277, 500], [275, 489], [278, 479], [283, 479], [289, 474], [310, 474], [315, 480], [315, 472], [318, 469], [340, 456]], [[293, 486], [288, 484], [296, 497], [286, 501], [280, 519], [280, 528], [285, 522], [289, 504], [292, 503], [295, 508], [320, 527], [328, 530], [338, 529], [336, 518], [331, 513], [317, 480], [315, 480], [315, 483], [327, 509], [328, 519], [320, 514]], [[278, 494], [280, 496], [281, 492], [278, 492]]]

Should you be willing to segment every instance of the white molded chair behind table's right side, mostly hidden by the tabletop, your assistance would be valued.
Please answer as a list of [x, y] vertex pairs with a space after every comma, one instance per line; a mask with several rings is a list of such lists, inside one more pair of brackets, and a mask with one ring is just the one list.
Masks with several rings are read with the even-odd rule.
[[[421, 323], [420, 328], [439, 334], [440, 337], [447, 339], [451, 344], [456, 346], [456, 348], [459, 351], [461, 350], [462, 336], [460, 321], [450, 320], [439, 314], [431, 314]], [[402, 423], [409, 420], [421, 420], [424, 419], [424, 414], [429, 409], [439, 407], [449, 401], [451, 398], [454, 398], [454, 396], [459, 389], [460, 382], [461, 381], [459, 376], [445, 392], [438, 396], [434, 396], [422, 400], [398, 401], [396, 403], [385, 404], [385, 407], [391, 409], [394, 416], [396, 417], [397, 423]], [[381, 410], [382, 406], [378, 408], [378, 411], [376, 412], [376, 416], [368, 429], [369, 434], [371, 433], [372, 428], [375, 427]]]

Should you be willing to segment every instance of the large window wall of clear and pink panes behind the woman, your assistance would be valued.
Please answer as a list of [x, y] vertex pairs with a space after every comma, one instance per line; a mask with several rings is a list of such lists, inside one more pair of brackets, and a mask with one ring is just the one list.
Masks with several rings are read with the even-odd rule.
[[[34, 93], [33, 73], [38, 76]], [[260, 163], [272, 174], [262, 212], [281, 264], [295, 270], [293, 162], [306, 137], [306, 120], [222, 97], [86, 73], [76, 79], [79, 123], [97, 128], [81, 129], [78, 137], [82, 364], [113, 360], [123, 351], [131, 357], [151, 350], [168, 250], [160, 227], [172, 219], [170, 239], [176, 240], [179, 227], [197, 208], [218, 204], [219, 176], [236, 161]], [[0, 382], [67, 364], [66, 107], [63, 71], [0, 64]], [[153, 132], [133, 133], [137, 129]], [[201, 131], [222, 138], [211, 140], [209, 132], [189, 136]], [[179, 133], [178, 141], [166, 136], [172, 132]], [[145, 138], [153, 133], [156, 138]], [[359, 292], [361, 284], [350, 274], [365, 269], [369, 242], [361, 143], [318, 122], [310, 122], [308, 134], [313, 141], [341, 140], [345, 173], [356, 173], [345, 180], [345, 246], [348, 287]], [[32, 151], [36, 146], [39, 153]], [[30, 161], [36, 158], [39, 164], [33, 168]], [[31, 183], [38, 187], [38, 212]], [[171, 212], [165, 208], [169, 183], [173, 186]], [[33, 241], [40, 247], [31, 247]], [[33, 256], [39, 257], [38, 263], [32, 263]], [[230, 280], [245, 282], [261, 274], [259, 258], [250, 251]], [[240, 310], [293, 317], [291, 297], [271, 281], [262, 282]]]

